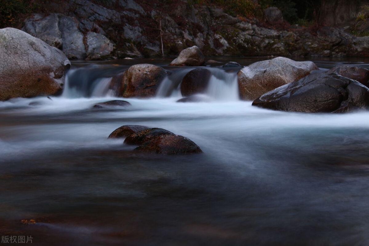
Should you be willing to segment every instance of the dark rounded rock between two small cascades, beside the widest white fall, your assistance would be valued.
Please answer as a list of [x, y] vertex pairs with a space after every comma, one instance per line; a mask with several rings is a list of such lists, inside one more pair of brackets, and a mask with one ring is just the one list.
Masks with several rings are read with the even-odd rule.
[[196, 68], [188, 72], [182, 79], [182, 96], [204, 93], [208, 87], [211, 72], [205, 68]]

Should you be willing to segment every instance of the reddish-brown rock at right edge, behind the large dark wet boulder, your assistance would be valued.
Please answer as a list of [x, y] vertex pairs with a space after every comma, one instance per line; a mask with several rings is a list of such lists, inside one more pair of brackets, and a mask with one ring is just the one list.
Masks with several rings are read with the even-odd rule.
[[338, 75], [356, 80], [365, 85], [366, 87], [369, 86], [369, 70], [363, 67], [341, 65], [333, 67], [327, 73], [337, 73]]

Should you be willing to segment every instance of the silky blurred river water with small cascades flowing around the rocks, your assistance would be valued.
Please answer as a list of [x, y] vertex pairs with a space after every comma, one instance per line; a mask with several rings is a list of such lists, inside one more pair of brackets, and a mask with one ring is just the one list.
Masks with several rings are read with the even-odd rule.
[[[315, 62], [369, 68], [358, 60]], [[92, 108], [121, 99], [111, 77], [143, 62], [168, 70], [156, 97]], [[176, 103], [193, 68], [168, 63], [74, 63], [61, 96], [0, 102], [1, 235], [35, 245], [369, 244], [369, 112], [256, 108], [238, 99], [237, 69], [220, 67], [207, 67], [209, 102]], [[168, 129], [204, 153], [139, 154], [107, 139], [127, 124]]]

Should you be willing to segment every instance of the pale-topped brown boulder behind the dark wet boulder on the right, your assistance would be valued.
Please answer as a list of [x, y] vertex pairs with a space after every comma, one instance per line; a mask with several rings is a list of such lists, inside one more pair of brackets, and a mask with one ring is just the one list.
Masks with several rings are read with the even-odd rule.
[[238, 71], [238, 88], [244, 100], [255, 100], [279, 86], [294, 82], [318, 67], [310, 61], [296, 62], [277, 57], [252, 63]]

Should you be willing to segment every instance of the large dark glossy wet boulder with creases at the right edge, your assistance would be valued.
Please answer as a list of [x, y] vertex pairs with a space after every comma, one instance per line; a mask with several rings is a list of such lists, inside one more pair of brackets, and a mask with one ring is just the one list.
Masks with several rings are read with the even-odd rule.
[[313, 73], [263, 94], [252, 105], [282, 111], [350, 112], [368, 108], [369, 89], [335, 73]]

